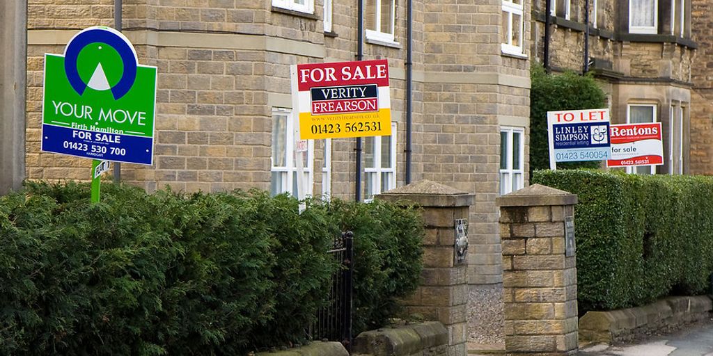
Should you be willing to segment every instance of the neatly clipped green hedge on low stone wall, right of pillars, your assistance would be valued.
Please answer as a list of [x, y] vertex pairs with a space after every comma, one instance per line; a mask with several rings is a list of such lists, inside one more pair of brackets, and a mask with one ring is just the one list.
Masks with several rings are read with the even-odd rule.
[[580, 313], [644, 305], [709, 288], [713, 177], [536, 171], [533, 183], [577, 194]]

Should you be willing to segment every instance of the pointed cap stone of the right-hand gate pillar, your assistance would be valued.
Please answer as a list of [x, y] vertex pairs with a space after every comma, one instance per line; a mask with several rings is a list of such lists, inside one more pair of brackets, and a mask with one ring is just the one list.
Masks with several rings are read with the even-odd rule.
[[496, 199], [498, 206], [545, 206], [577, 204], [577, 194], [541, 184], [520, 189]]

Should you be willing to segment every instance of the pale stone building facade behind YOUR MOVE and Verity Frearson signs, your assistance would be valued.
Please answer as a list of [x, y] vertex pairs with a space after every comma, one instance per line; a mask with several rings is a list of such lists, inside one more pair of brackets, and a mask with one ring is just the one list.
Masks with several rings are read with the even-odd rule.
[[[406, 165], [406, 0], [364, 0], [364, 59], [385, 58], [394, 135], [362, 140], [362, 199], [400, 187]], [[496, 197], [528, 177], [530, 4], [412, 1], [411, 181], [476, 194], [471, 283], [501, 281]], [[113, 0], [29, 0], [26, 176], [88, 179], [88, 159], [40, 152], [44, 53], [113, 25]], [[293, 192], [289, 66], [353, 61], [357, 0], [124, 0], [123, 32], [158, 67], [153, 166], [123, 164], [148, 191]], [[501, 145], [501, 141], [503, 145]], [[354, 199], [356, 140], [309, 143], [309, 191]], [[503, 157], [503, 159], [501, 159]], [[501, 184], [501, 181], [503, 184]]]

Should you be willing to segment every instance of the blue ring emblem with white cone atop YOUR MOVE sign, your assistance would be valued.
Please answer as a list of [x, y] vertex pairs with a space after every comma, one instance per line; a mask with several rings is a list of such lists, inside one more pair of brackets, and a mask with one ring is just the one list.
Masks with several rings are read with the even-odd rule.
[[[98, 49], [102, 46], [109, 46], [118, 53], [121, 62], [123, 63], [123, 73], [115, 85], [110, 85], [106, 80], [106, 74], [103, 73], [101, 63], [98, 64], [91, 79], [85, 82], [79, 75], [78, 58], [79, 53], [87, 46], [98, 43]], [[67, 75], [72, 88], [82, 95], [86, 88], [93, 90], [111, 90], [114, 100], [122, 98], [133, 86], [136, 80], [136, 67], [138, 66], [138, 56], [136, 51], [126, 38], [119, 31], [110, 27], [94, 26], [86, 28], [77, 33], [67, 43], [64, 50], [64, 71]]]

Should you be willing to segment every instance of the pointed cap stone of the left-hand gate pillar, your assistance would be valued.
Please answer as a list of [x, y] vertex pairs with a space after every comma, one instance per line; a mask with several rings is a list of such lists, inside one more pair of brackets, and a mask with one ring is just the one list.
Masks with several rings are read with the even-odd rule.
[[392, 202], [406, 200], [420, 206], [471, 206], [475, 194], [424, 179], [377, 194], [376, 199]]

